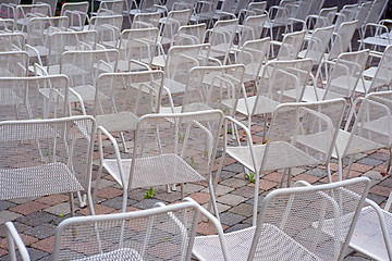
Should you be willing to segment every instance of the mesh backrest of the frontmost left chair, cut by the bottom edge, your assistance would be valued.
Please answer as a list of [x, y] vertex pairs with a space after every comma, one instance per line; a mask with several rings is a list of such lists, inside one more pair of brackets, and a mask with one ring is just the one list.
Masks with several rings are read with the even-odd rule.
[[[59, 260], [186, 260], [195, 210], [70, 224]], [[194, 234], [193, 234], [194, 235]]]

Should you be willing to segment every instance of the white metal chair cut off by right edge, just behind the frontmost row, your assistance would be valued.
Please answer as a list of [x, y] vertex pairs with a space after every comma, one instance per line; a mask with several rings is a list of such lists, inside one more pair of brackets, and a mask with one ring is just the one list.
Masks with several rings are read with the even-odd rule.
[[[332, 153], [332, 157], [339, 161], [340, 179], [343, 175], [343, 159], [345, 157], [350, 157], [345, 175], [347, 178], [355, 154], [381, 148], [391, 150], [391, 91], [378, 91], [355, 100], [344, 129], [339, 130], [336, 149]], [[356, 110], [359, 104], [359, 109]], [[391, 162], [389, 162], [387, 173], [391, 171], [390, 164]]]

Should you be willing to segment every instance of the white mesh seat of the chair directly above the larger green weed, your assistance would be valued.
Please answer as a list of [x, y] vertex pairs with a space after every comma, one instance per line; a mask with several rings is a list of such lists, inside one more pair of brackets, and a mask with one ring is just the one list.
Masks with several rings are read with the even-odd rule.
[[[124, 173], [131, 173], [132, 159], [124, 159], [121, 162]], [[122, 185], [118, 161], [115, 159], [103, 160], [103, 166]], [[205, 179], [187, 162], [174, 153], [137, 159], [134, 172], [139, 174], [134, 175], [131, 189], [167, 185], [172, 181], [187, 183]], [[125, 184], [127, 184], [130, 176], [126, 175], [125, 178]]]

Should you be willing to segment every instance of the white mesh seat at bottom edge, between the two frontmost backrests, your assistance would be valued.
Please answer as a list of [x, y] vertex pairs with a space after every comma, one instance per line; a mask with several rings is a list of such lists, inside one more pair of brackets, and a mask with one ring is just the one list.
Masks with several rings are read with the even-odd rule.
[[[224, 235], [231, 260], [244, 260], [249, 256], [255, 229], [253, 226]], [[194, 254], [204, 260], [224, 260], [218, 235], [196, 237]], [[268, 223], [262, 224], [256, 257], [257, 260], [321, 260], [279, 227]]]

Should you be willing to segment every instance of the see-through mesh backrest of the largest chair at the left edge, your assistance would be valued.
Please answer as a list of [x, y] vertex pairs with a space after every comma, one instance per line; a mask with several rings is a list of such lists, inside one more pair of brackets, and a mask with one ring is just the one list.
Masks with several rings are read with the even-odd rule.
[[93, 122], [89, 119], [3, 122], [0, 125], [0, 199], [86, 188]]

